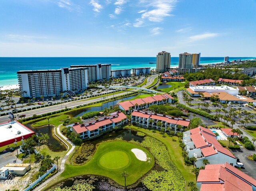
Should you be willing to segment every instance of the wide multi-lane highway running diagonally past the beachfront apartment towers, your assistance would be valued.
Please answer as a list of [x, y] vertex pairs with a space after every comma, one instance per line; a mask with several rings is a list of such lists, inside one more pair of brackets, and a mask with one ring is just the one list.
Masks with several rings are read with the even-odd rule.
[[[152, 75], [152, 76], [148, 77], [147, 83], [142, 85], [142, 88], [145, 88], [145, 87], [151, 85], [156, 77], [158, 77], [158, 75]], [[134, 89], [134, 90], [131, 90], [131, 91], [135, 92], [135, 91], [138, 91], [138, 90]], [[120, 96], [120, 95], [125, 95], [125, 94], [127, 94], [127, 93], [122, 92], [122, 93], [114, 94], [114, 97], [117, 97], [117, 96]], [[24, 115], [26, 115], [26, 117], [30, 117], [30, 116], [33, 116], [34, 114], [40, 115], [40, 114], [44, 114], [44, 113], [48, 113], [48, 112], [54, 112], [54, 111], [61, 110], [61, 108], [65, 108], [65, 107], [74, 108], [74, 107], [79, 106], [79, 105], [88, 104], [88, 103], [96, 102], [96, 101], [100, 101], [100, 100], [104, 100], [104, 98], [98, 97], [98, 98], [94, 98], [94, 99], [90, 99], [90, 100], [89, 100], [89, 98], [87, 98], [87, 99], [84, 99], [84, 100], [66, 102], [66, 103], [62, 103], [62, 104], [58, 104], [58, 105], [53, 105], [53, 106], [48, 106], [48, 107], [44, 107], [44, 108], [38, 108], [38, 109], [35, 109], [35, 110], [20, 112], [19, 116], [24, 114]], [[16, 114], [15, 114], [15, 116], [16, 116]], [[16, 119], [17, 119], [17, 117], [16, 117]], [[0, 123], [6, 122], [8, 120], [10, 120], [8, 116], [1, 116], [0, 117]]]

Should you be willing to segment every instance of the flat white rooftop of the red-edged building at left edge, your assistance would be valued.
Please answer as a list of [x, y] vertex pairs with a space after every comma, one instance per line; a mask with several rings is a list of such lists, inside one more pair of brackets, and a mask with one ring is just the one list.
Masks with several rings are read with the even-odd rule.
[[[12, 127], [10, 128], [10, 126]], [[7, 140], [34, 133], [32, 130], [17, 121], [1, 123], [0, 132], [0, 142], [5, 142]]]

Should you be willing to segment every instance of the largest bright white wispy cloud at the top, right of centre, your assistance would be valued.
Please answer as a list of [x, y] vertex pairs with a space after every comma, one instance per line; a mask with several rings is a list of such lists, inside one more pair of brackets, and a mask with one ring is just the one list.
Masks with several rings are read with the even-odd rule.
[[147, 10], [142, 10], [142, 20], [149, 20], [151, 22], [162, 22], [165, 17], [171, 16], [170, 12], [173, 10], [176, 0], [140, 0]]

